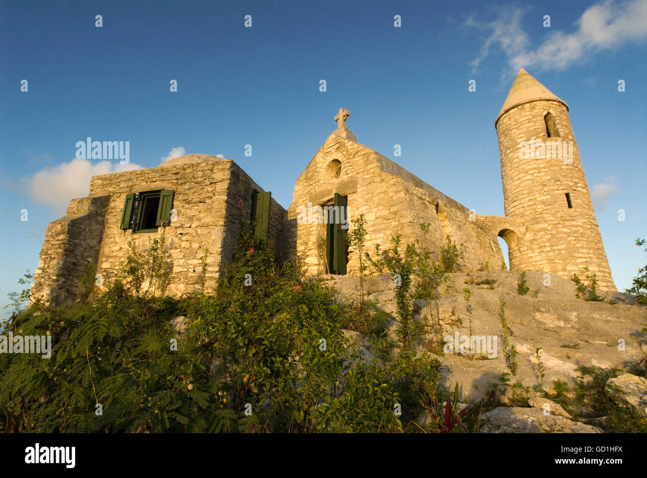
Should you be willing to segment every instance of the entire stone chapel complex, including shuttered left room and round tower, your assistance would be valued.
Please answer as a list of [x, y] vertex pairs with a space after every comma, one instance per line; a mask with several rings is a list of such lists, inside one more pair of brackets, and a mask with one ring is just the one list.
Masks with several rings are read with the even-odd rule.
[[[505, 216], [476, 214], [358, 143], [344, 108], [334, 117], [336, 130], [296, 178], [287, 210], [234, 161], [210, 155], [94, 176], [89, 196], [72, 199], [67, 214], [49, 223], [32, 293], [50, 304], [70, 301], [88, 265], [111, 277], [131, 238], [146, 247], [162, 231], [173, 263], [167, 293], [197, 288], [206, 249], [212, 287], [232, 260], [241, 211], [280, 259], [305, 255], [311, 274], [356, 273], [356, 251], [345, 234], [364, 214], [367, 251], [377, 243], [389, 247], [399, 232], [403, 244], [419, 239], [439, 255], [449, 236], [463, 244], [465, 266], [498, 268], [499, 236], [508, 245], [510, 270], [570, 278], [584, 277], [587, 267], [600, 288], [615, 291], [568, 111], [564, 100], [520, 70], [494, 122]], [[427, 234], [421, 223], [428, 223]], [[318, 244], [325, 244], [323, 256]]]

